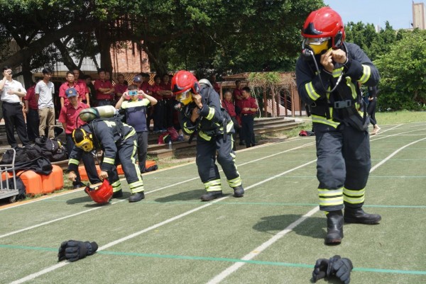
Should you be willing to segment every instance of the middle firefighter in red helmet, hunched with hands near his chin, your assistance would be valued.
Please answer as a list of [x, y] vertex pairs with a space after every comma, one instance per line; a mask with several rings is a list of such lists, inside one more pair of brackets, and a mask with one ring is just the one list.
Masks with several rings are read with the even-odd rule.
[[216, 159], [222, 166], [226, 181], [234, 189], [234, 197], [242, 197], [244, 188], [236, 170], [232, 150], [234, 123], [221, 108], [219, 94], [207, 79], [197, 81], [191, 72], [180, 70], [173, 76], [172, 91], [180, 103], [180, 121], [185, 134], [197, 135], [197, 167], [207, 193], [201, 200], [222, 197], [222, 186]]

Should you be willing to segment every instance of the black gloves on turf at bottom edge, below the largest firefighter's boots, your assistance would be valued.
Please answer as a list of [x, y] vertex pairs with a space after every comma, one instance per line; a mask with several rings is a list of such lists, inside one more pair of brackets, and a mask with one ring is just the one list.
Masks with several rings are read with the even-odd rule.
[[312, 272], [312, 278], [315, 283], [324, 277], [336, 276], [342, 283], [349, 284], [352, 268], [354, 268], [352, 262], [349, 259], [341, 259], [340, 256], [333, 256], [330, 259], [318, 259]]

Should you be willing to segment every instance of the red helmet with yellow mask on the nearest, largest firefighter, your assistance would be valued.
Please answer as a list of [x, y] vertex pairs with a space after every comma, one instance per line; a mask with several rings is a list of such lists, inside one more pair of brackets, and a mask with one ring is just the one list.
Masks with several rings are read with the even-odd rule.
[[302, 37], [303, 45], [309, 45], [316, 55], [330, 47], [337, 49], [345, 39], [342, 17], [327, 6], [313, 11], [303, 25]]

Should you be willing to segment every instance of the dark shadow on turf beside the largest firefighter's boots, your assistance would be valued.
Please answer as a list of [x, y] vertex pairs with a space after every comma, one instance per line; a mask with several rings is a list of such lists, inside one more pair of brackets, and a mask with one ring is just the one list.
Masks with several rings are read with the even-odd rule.
[[[262, 217], [261, 221], [253, 226], [253, 229], [259, 232], [276, 234], [288, 227], [291, 223], [300, 219], [300, 217], [302, 217], [302, 215], [295, 214]], [[300, 223], [300, 225], [296, 226], [293, 232], [314, 239], [324, 239], [326, 227], [327, 221], [325, 218], [309, 217]]]

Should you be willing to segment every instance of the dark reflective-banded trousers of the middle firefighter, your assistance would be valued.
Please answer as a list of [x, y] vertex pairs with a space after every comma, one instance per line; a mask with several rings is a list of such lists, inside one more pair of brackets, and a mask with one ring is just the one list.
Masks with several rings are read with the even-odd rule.
[[233, 144], [234, 141], [230, 134], [226, 135], [226, 141], [224, 135], [214, 136], [210, 141], [203, 140], [200, 136], [197, 137], [198, 174], [207, 191], [222, 191], [216, 159], [222, 166], [229, 186], [231, 188], [241, 186], [241, 176], [236, 170], [235, 153], [232, 150]]

